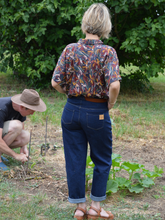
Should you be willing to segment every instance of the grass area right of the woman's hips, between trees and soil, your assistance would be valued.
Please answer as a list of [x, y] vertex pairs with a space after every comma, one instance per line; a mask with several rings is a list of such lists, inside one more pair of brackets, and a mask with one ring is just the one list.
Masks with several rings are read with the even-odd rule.
[[165, 136], [165, 76], [152, 78], [151, 84], [155, 88], [152, 93], [119, 94], [116, 105], [110, 110], [116, 138]]

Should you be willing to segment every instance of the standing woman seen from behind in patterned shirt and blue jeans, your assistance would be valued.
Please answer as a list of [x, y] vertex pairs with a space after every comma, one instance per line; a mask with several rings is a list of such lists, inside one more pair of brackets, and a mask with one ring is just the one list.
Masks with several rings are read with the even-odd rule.
[[[102, 3], [92, 4], [82, 19], [85, 39], [69, 44], [62, 52], [52, 77], [52, 86], [68, 95], [61, 124], [63, 131], [69, 202], [76, 203], [74, 218], [113, 219], [100, 207], [106, 199], [106, 185], [111, 168], [112, 131], [109, 110], [120, 90], [116, 51], [104, 45], [111, 19]], [[86, 211], [85, 170], [87, 147], [95, 164], [90, 198]]]

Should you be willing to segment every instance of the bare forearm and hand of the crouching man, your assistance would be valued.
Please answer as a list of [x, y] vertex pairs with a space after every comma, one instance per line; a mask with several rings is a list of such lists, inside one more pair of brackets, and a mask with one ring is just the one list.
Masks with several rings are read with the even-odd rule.
[[17, 154], [15, 151], [10, 149], [10, 147], [8, 147], [8, 145], [2, 139], [2, 128], [0, 128], [0, 153], [4, 153], [10, 157], [13, 157], [16, 160], [21, 161], [22, 163], [28, 160], [25, 154]]

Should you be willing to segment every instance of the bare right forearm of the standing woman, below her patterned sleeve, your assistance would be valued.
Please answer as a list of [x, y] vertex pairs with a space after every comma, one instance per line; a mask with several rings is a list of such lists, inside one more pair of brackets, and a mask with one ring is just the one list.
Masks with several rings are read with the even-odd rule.
[[109, 101], [108, 101], [108, 109], [113, 108], [116, 103], [117, 97], [120, 91], [120, 81], [115, 81], [109, 86]]

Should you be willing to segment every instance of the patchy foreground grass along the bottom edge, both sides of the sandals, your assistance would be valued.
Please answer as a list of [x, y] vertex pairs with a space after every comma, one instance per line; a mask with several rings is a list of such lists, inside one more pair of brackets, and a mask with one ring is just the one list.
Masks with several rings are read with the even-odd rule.
[[[7, 181], [0, 182], [0, 220], [69, 220], [73, 219], [74, 208], [65, 206], [61, 203], [47, 204], [47, 197], [43, 194], [26, 195], [16, 189], [15, 186]], [[159, 220], [159, 213], [154, 216], [149, 215], [147, 208], [149, 204], [144, 204], [143, 208], [139, 206], [139, 202], [126, 203], [124, 200], [119, 201], [115, 206], [111, 207], [115, 220]], [[137, 207], [138, 213], [134, 213]], [[120, 209], [120, 212], [118, 213]]]

